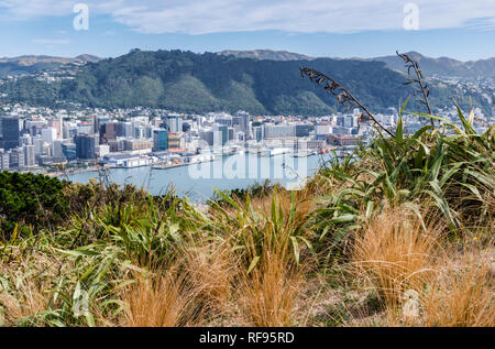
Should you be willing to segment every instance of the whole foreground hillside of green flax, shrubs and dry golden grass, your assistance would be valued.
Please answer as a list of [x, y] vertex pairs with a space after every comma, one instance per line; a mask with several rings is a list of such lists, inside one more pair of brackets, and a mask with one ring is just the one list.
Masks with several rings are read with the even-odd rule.
[[495, 326], [495, 127], [476, 134], [459, 117], [462, 129], [413, 137], [399, 122], [300, 190], [218, 193], [208, 207], [4, 173], [0, 320]]

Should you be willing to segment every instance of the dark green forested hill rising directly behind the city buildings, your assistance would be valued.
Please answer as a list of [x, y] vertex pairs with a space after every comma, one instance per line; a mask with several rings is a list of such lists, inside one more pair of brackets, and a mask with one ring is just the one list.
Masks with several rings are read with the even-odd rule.
[[[239, 109], [254, 114], [321, 116], [342, 110], [324, 90], [302, 79], [300, 66], [321, 70], [339, 80], [372, 110], [398, 107], [414, 95], [403, 74], [383, 62], [315, 58], [273, 61], [237, 58], [215, 53], [140, 51], [100, 59], [76, 69], [70, 79], [44, 81], [22, 77], [0, 85], [0, 101], [55, 107], [61, 101], [88, 107], [152, 107], [189, 113]], [[431, 84], [435, 107], [470, 105], [490, 110], [483, 96]], [[414, 102], [408, 110], [425, 111]]]

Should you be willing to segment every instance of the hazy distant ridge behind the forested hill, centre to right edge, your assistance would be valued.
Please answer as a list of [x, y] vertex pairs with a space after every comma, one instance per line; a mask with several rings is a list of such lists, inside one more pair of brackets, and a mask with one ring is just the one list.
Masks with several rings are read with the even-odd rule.
[[[254, 50], [254, 51], [232, 51], [219, 52], [222, 55], [233, 55], [242, 58], [272, 59], [272, 61], [312, 61], [315, 57], [290, 53], [286, 51]], [[480, 61], [461, 62], [448, 57], [431, 58], [417, 52], [408, 53], [416, 59], [425, 76], [438, 77], [462, 77], [462, 78], [494, 78], [495, 77], [495, 57]], [[333, 58], [341, 59], [341, 58]], [[375, 57], [375, 58], [352, 58], [360, 61], [384, 62], [391, 69], [407, 73], [404, 62], [397, 55]]]

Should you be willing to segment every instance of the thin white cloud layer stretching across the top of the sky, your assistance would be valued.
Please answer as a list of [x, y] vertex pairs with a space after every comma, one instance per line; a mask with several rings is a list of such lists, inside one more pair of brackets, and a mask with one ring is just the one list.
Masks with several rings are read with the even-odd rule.
[[493, 28], [495, 18], [495, 0], [0, 0], [0, 17], [68, 15], [77, 2], [87, 3], [90, 15], [109, 14], [143, 33], [396, 30], [402, 29], [408, 2], [419, 8], [420, 30], [458, 28], [480, 18]]

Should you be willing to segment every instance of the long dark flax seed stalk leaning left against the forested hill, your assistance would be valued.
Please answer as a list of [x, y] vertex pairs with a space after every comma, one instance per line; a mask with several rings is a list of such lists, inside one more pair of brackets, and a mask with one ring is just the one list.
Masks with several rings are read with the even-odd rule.
[[300, 75], [302, 77], [309, 76], [309, 79], [311, 81], [316, 81], [318, 85], [321, 85], [322, 83], [324, 83], [326, 84], [323, 87], [324, 90], [327, 92], [330, 92], [332, 96], [337, 96], [337, 100], [339, 101], [339, 103], [341, 103], [341, 105], [346, 103], [348, 106], [356, 106], [361, 110], [363, 110], [367, 117], [364, 114], [361, 114], [360, 121], [366, 120], [366, 119], [372, 119], [373, 122], [377, 127], [380, 127], [386, 133], [388, 133], [389, 135], [395, 138], [395, 134], [393, 132], [391, 132], [382, 123], [380, 123], [378, 120], [376, 120], [376, 118], [370, 112], [370, 110], [367, 110], [366, 107], [364, 107], [354, 96], [352, 96], [352, 94], [350, 91], [348, 91], [344, 87], [342, 87], [342, 85], [340, 85], [338, 81], [336, 81], [331, 77], [328, 77], [323, 73], [320, 73], [320, 72], [311, 69], [311, 68], [301, 67], [301, 68], [299, 68], [299, 70], [300, 70]]

